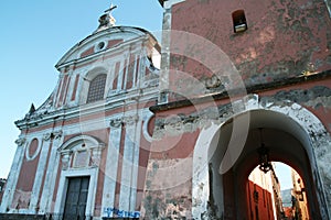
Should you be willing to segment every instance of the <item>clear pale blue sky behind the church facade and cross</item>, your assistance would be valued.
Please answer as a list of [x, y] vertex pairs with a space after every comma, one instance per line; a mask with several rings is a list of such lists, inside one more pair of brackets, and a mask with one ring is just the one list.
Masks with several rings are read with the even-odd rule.
[[[117, 25], [161, 30], [158, 0], [113, 0]], [[38, 108], [57, 81], [54, 65], [77, 42], [92, 34], [109, 0], [33, 0], [0, 2], [0, 177], [7, 178], [20, 133], [14, 121], [31, 103]], [[289, 184], [285, 184], [288, 186]]]

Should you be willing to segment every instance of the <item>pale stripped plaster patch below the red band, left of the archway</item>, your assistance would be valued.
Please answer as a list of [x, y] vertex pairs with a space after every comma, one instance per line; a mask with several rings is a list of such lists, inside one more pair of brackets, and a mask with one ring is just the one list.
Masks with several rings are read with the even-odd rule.
[[191, 219], [191, 168], [192, 157], [149, 161], [145, 186], [147, 191], [143, 195], [141, 209], [145, 219]]

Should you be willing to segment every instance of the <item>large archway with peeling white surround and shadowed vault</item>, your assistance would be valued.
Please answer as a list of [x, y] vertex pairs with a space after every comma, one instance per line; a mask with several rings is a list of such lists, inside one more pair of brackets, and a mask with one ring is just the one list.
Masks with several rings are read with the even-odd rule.
[[[318, 216], [322, 219], [330, 218], [331, 198], [328, 191], [331, 191], [331, 175], [328, 172], [328, 158], [330, 158], [331, 153], [328, 152], [328, 148], [331, 148], [331, 139], [321, 121], [306, 108], [293, 102], [260, 101], [257, 95], [246, 97], [239, 102], [246, 107], [245, 110], [237, 116], [223, 119], [221, 124], [213, 123], [211, 127], [203, 129], [196, 141], [193, 154], [193, 217], [196, 219], [202, 218], [204, 215], [224, 217], [225, 212], [225, 215], [242, 217], [243, 212], [239, 213], [237, 210], [243, 209], [244, 205], [238, 202], [242, 200], [236, 191], [243, 189], [241, 188], [242, 180], [248, 177], [250, 170], [257, 165], [257, 156], [256, 154], [252, 155], [255, 151], [249, 145], [254, 145], [252, 143], [256, 142], [254, 139], [256, 129], [264, 128], [270, 142], [273, 142], [271, 140], [275, 142], [275, 139], [278, 141], [281, 139], [279, 136], [287, 135], [287, 141], [292, 144], [296, 143], [296, 151], [300, 151], [301, 156], [305, 155], [303, 161], [293, 156], [281, 156], [284, 155], [281, 152], [286, 147], [279, 147], [280, 143], [273, 147], [276, 150], [273, 160], [290, 164], [301, 173], [303, 178], [311, 183], [309, 187], [311, 187], [312, 193], [309, 197], [313, 200], [311, 202], [312, 209], [319, 207]], [[217, 166], [224, 160], [222, 155], [226, 154], [228, 136], [242, 135], [232, 133], [232, 121], [247, 114], [249, 116], [249, 131], [243, 131], [247, 132], [246, 135], [248, 136], [243, 152], [239, 152], [239, 156], [237, 155], [238, 158], [233, 164], [232, 173], [227, 172], [218, 175], [220, 168]], [[249, 142], [252, 143], [249, 144]], [[293, 154], [291, 151], [287, 153], [288, 155]], [[214, 165], [211, 163], [213, 161], [216, 162]], [[242, 177], [237, 177], [236, 173]], [[226, 193], [224, 193], [225, 188]], [[236, 194], [235, 197], [228, 191]], [[227, 198], [228, 196], [233, 200]]]

